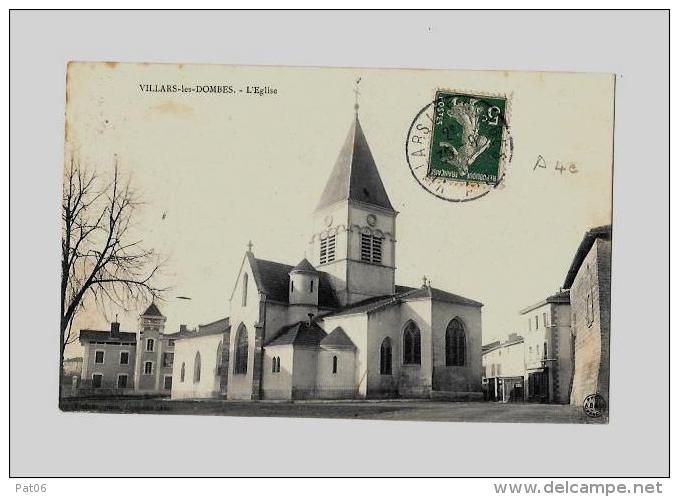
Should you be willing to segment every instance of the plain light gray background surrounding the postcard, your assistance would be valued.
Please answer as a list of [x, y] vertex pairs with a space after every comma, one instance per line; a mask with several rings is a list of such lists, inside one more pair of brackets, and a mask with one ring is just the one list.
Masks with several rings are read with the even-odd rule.
[[[10, 17], [13, 476], [668, 473], [667, 13]], [[59, 205], [69, 60], [617, 73], [610, 424], [61, 413]]]

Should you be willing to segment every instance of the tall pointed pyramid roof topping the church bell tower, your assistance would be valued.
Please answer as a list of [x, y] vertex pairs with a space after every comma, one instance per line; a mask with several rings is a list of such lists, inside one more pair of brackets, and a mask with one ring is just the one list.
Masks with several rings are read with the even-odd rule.
[[316, 210], [347, 199], [394, 210], [361, 129], [358, 115], [349, 129]]

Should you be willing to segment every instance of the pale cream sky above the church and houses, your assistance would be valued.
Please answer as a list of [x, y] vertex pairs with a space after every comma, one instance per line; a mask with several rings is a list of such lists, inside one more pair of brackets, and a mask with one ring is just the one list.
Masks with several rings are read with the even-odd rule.
[[[106, 176], [117, 157], [143, 197], [136, 233], [168, 258], [159, 283], [171, 290], [158, 302], [167, 332], [229, 314], [249, 240], [259, 258], [304, 257], [358, 77], [363, 131], [399, 211], [396, 282], [426, 275], [481, 301], [484, 343], [521, 333], [519, 311], [558, 291], [585, 231], [611, 222], [609, 74], [71, 63], [65, 160]], [[163, 84], [235, 91], [140, 87]], [[508, 97], [514, 155], [503, 187], [481, 199], [438, 199], [408, 168], [408, 128], [437, 89]], [[540, 156], [546, 167], [535, 168]], [[135, 331], [147, 305], [119, 311], [121, 328]], [[113, 318], [89, 305], [74, 327], [107, 329]], [[79, 353], [76, 344], [67, 355]]]

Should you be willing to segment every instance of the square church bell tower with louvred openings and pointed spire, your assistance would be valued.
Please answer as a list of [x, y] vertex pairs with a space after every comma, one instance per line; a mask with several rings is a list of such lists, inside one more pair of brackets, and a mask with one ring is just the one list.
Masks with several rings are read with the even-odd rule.
[[358, 102], [313, 215], [311, 262], [342, 305], [394, 293], [396, 215], [358, 119]]

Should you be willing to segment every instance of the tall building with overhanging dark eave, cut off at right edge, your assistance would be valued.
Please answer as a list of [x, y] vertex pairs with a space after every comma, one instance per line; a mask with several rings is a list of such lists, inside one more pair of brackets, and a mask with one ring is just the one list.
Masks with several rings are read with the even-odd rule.
[[611, 225], [589, 230], [578, 247], [563, 287], [570, 289], [573, 387], [570, 402], [588, 395], [608, 402], [611, 332]]

